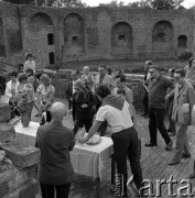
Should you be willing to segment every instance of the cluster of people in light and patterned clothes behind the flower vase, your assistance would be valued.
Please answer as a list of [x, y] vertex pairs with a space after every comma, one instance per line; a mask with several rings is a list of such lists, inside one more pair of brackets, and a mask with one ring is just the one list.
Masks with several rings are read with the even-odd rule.
[[21, 116], [23, 127], [29, 127], [34, 107], [36, 116], [46, 112], [50, 122], [52, 120], [50, 108], [54, 101], [55, 88], [46, 74], [35, 74], [32, 54], [29, 54], [24, 67], [20, 65], [18, 72], [10, 72], [8, 77], [10, 80], [6, 86], [6, 96], [9, 97], [11, 119]]

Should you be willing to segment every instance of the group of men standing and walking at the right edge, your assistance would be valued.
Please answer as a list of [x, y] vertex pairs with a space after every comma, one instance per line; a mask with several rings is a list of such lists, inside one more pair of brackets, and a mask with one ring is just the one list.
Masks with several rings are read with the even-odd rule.
[[[150, 132], [150, 142], [145, 146], [158, 145], [159, 130], [165, 141], [165, 148], [171, 151], [171, 136], [176, 135], [176, 152], [169, 162], [169, 165], [176, 165], [182, 158], [191, 157], [187, 129], [192, 124], [192, 110], [195, 105], [195, 59], [192, 58], [184, 68], [170, 68], [170, 77], [161, 74], [161, 69], [154, 66], [152, 61], [145, 62], [144, 68], [143, 116], [149, 118]], [[166, 112], [170, 122], [167, 129], [164, 125]], [[189, 177], [195, 178], [195, 173]]]

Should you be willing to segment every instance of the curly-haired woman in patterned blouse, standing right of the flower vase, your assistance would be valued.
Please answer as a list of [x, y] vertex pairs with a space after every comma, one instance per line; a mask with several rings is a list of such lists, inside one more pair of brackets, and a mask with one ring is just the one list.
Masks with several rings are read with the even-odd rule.
[[41, 112], [46, 112], [46, 122], [51, 122], [52, 117], [50, 109], [54, 101], [55, 88], [52, 85], [51, 78], [46, 74], [43, 74], [40, 79], [41, 84], [36, 89], [37, 100], [41, 107]]

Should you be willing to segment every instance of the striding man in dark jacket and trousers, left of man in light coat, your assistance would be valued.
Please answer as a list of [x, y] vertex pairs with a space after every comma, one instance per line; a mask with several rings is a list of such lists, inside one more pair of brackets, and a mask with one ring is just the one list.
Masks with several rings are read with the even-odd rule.
[[160, 68], [155, 65], [149, 68], [149, 131], [150, 131], [150, 143], [145, 146], [156, 146], [156, 133], [160, 131], [162, 138], [165, 141], [166, 150], [172, 148], [173, 142], [170, 139], [166, 128], [164, 125], [165, 116], [165, 96], [167, 89], [173, 89], [173, 82], [161, 75]]

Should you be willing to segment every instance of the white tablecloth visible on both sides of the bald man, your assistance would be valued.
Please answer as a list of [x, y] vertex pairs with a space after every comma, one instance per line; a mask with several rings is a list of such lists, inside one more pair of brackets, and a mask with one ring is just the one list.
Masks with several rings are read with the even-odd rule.
[[[30, 122], [29, 128], [23, 128], [19, 121], [14, 125], [19, 143], [34, 146], [39, 127], [40, 123]], [[113, 153], [112, 144], [112, 140], [106, 136], [101, 136], [101, 142], [97, 145], [76, 144], [69, 153], [75, 173], [101, 179], [106, 175], [106, 164]]]

